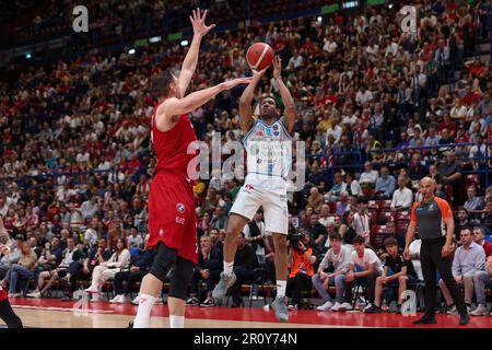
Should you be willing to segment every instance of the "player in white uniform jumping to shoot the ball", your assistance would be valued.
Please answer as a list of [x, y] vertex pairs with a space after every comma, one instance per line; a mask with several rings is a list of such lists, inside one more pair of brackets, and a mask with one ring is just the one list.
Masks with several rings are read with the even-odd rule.
[[265, 74], [254, 71], [253, 82], [245, 89], [239, 101], [241, 129], [243, 143], [247, 152], [247, 176], [241, 188], [227, 223], [224, 244], [224, 271], [212, 296], [222, 299], [235, 280], [234, 257], [239, 232], [253, 219], [260, 206], [263, 207], [267, 231], [272, 233], [274, 244], [274, 264], [277, 275], [277, 298], [272, 303], [276, 316], [281, 322], [289, 320], [286, 310], [288, 249], [286, 234], [289, 228], [285, 177], [292, 163], [292, 132], [295, 120], [295, 104], [291, 93], [282, 81], [281, 59], [273, 60], [276, 79], [284, 116], [279, 117], [279, 108], [271, 96], [263, 97], [259, 105], [259, 118], [253, 117], [251, 101], [259, 80]]

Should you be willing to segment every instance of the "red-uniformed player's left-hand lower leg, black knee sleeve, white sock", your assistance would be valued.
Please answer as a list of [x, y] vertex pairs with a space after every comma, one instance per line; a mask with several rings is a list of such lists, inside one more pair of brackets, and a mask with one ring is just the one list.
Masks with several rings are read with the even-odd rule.
[[161, 294], [167, 272], [176, 264], [177, 253], [177, 249], [167, 247], [163, 242], [159, 243], [155, 259], [140, 287], [140, 303], [134, 318], [134, 328], [149, 327], [152, 306]]

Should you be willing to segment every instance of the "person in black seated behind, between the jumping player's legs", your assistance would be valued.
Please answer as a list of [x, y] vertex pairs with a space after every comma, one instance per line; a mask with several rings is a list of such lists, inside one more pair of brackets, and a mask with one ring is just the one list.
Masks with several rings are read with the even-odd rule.
[[236, 282], [231, 287], [231, 295], [233, 298], [232, 307], [238, 307], [242, 304], [241, 285], [250, 280], [255, 275], [255, 268], [258, 266], [255, 249], [246, 244], [244, 233], [241, 232], [237, 237], [237, 250], [234, 257], [234, 275]]

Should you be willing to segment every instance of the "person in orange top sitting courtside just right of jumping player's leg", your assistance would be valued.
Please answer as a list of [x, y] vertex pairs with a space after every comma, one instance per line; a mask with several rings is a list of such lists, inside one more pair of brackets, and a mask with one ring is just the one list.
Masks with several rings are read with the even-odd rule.
[[312, 278], [314, 275], [314, 265], [316, 256], [309, 247], [311, 235], [300, 233], [289, 237], [289, 262], [291, 273], [289, 275], [286, 291], [292, 300], [289, 303], [289, 310], [297, 310], [303, 291], [313, 290]]

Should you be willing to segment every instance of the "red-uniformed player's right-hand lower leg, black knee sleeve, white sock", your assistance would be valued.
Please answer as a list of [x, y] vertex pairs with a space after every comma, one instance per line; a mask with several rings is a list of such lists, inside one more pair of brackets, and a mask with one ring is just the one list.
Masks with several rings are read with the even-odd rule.
[[185, 327], [186, 292], [194, 275], [194, 265], [192, 261], [178, 256], [174, 266], [167, 298], [171, 328]]

